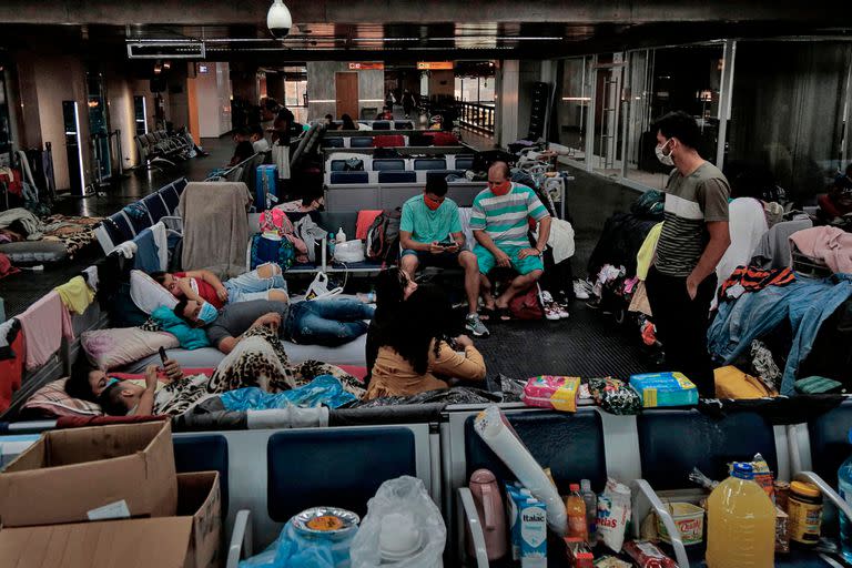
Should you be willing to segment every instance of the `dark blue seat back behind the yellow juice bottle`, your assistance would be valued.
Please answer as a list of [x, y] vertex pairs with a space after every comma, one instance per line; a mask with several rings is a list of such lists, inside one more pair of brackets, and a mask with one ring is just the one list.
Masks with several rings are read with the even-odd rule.
[[751, 462], [760, 453], [778, 471], [772, 425], [757, 413], [717, 419], [698, 410], [656, 409], [637, 418], [642, 478], [657, 490], [692, 487], [698, 467], [711, 479], [728, 477], [731, 462]]

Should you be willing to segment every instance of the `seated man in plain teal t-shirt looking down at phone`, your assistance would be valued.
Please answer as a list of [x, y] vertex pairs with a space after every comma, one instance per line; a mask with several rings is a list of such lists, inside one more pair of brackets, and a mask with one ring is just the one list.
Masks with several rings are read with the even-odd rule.
[[447, 197], [447, 181], [432, 176], [426, 190], [403, 204], [399, 221], [399, 243], [403, 254], [399, 266], [414, 278], [417, 266], [440, 266], [465, 270], [465, 292], [468, 314], [465, 327], [477, 337], [488, 336], [488, 328], [476, 312], [479, 301], [479, 266], [476, 255], [465, 248], [465, 233], [458, 216], [458, 205]]

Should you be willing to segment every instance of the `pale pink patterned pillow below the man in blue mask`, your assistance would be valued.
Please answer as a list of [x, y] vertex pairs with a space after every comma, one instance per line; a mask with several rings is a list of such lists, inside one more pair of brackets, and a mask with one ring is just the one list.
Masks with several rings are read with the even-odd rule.
[[133, 363], [156, 353], [160, 347], [173, 349], [178, 338], [165, 332], [144, 332], [139, 327], [119, 327], [83, 332], [81, 344], [89, 361], [102, 369]]

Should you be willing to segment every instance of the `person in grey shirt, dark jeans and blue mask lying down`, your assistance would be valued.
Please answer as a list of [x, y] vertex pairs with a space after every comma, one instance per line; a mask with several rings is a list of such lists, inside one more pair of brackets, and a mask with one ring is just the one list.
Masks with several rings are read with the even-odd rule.
[[314, 300], [311, 302], [274, 302], [253, 300], [229, 304], [221, 312], [209, 303], [181, 300], [174, 313], [190, 325], [204, 327], [210, 343], [222, 353], [240, 343], [253, 327], [266, 325], [280, 337], [302, 345], [336, 347], [367, 333], [364, 320], [374, 308], [357, 300]]

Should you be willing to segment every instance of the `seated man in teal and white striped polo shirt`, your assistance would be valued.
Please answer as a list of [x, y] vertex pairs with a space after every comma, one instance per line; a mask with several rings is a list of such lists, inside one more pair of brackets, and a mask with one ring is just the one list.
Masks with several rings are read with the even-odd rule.
[[[487, 312], [508, 320], [509, 301], [526, 291], [545, 271], [541, 254], [550, 235], [550, 215], [538, 196], [526, 185], [509, 181], [509, 166], [495, 162], [488, 170], [488, 189], [474, 200], [470, 229], [474, 231], [483, 300]], [[530, 246], [528, 220], [540, 224], [538, 242]], [[499, 297], [491, 296], [487, 274], [495, 266], [513, 267], [518, 273]], [[483, 318], [490, 318], [485, 315]]]

